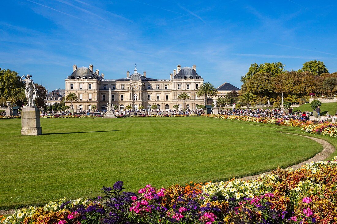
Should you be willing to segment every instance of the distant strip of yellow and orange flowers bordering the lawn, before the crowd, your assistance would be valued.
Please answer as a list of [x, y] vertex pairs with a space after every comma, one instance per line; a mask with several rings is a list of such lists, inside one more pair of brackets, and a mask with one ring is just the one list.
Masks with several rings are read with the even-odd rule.
[[300, 119], [249, 117], [221, 114], [202, 114], [201, 116], [227, 120], [240, 120], [253, 123], [275, 124], [288, 127], [300, 127], [302, 131], [307, 133], [337, 137], [337, 124], [328, 121], [305, 121]]

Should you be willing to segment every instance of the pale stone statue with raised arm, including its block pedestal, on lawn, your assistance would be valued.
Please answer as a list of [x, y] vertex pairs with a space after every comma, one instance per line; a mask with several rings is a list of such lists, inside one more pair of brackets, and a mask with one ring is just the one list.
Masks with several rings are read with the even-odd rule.
[[24, 75], [20, 78], [20, 82], [24, 81], [26, 84], [25, 95], [27, 98], [27, 105], [21, 111], [21, 135], [42, 135], [40, 111], [35, 105], [35, 100], [38, 98], [37, 90], [30, 77], [31, 75]]

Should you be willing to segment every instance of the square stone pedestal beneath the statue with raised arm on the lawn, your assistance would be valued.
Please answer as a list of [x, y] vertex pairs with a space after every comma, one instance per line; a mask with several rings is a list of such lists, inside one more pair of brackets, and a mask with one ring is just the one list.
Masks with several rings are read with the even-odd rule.
[[40, 111], [37, 107], [24, 106], [21, 111], [21, 135], [42, 135]]

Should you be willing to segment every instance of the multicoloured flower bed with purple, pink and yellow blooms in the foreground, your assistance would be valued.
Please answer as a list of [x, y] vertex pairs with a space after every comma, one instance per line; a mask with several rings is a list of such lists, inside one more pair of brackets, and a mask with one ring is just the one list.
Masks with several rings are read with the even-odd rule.
[[[336, 159], [337, 157], [335, 157]], [[337, 160], [277, 169], [258, 179], [189, 183], [125, 192], [123, 182], [96, 199], [50, 202], [0, 217], [4, 224], [317, 223], [337, 222]]]

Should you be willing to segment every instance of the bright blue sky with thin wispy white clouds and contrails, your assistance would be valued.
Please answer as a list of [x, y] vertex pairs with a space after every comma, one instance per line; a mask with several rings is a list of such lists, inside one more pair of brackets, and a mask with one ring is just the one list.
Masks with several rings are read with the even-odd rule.
[[205, 81], [241, 86], [250, 64], [310, 60], [337, 71], [335, 1], [16, 0], [3, 1], [0, 67], [64, 88], [72, 65], [106, 79], [158, 79], [192, 67]]

